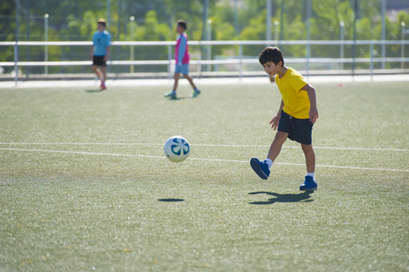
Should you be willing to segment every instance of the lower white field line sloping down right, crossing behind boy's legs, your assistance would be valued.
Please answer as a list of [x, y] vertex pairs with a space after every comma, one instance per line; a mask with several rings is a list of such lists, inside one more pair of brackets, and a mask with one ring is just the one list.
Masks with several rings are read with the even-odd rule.
[[[136, 158], [149, 158], [149, 159], [165, 159], [165, 156], [152, 156], [152, 155], [130, 155], [130, 154], [118, 154], [118, 153], [98, 153], [98, 152], [83, 152], [83, 151], [47, 151], [47, 150], [29, 150], [29, 149], [14, 149], [14, 148], [0, 148], [1, 151], [27, 151], [27, 152], [50, 152], [50, 153], [65, 153], [65, 154], [80, 154], [80, 155], [97, 155], [97, 156], [116, 156], [116, 157], [136, 157]], [[248, 163], [247, 160], [224, 160], [224, 159], [202, 159], [202, 158], [188, 158], [187, 160], [205, 160], [205, 161], [220, 161], [220, 162], [240, 162]], [[304, 166], [302, 163], [289, 163], [289, 162], [274, 162], [279, 165], [296, 165]], [[350, 170], [381, 170], [381, 171], [397, 171], [397, 172], [409, 172], [409, 170], [399, 169], [383, 169], [383, 168], [365, 168], [365, 167], [352, 167], [352, 166], [336, 166], [336, 165], [320, 165], [316, 167], [326, 168], [338, 168], [338, 169], [350, 169]]]

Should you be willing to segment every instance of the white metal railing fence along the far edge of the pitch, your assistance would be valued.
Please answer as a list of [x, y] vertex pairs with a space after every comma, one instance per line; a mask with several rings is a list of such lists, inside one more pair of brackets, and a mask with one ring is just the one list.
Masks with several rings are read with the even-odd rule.
[[[0, 67], [10, 67], [14, 66], [15, 68], [15, 83], [18, 82], [18, 69], [19, 67], [29, 67], [29, 66], [44, 66], [45, 73], [46, 69], [49, 66], [85, 66], [90, 65], [90, 61], [64, 61], [64, 62], [49, 62], [48, 61], [48, 47], [49, 46], [91, 46], [91, 42], [0, 42], [0, 50], [4, 46], [13, 46], [14, 47], [14, 62], [0, 62]], [[351, 74], [354, 74], [354, 64], [355, 63], [367, 63], [369, 64], [369, 69], [367, 73], [371, 76], [374, 75], [374, 64], [375, 63], [401, 63], [400, 67], [402, 72], [407, 72], [404, 70], [405, 63], [409, 63], [409, 57], [405, 55], [405, 46], [409, 45], [409, 41], [191, 41], [189, 42], [190, 46], [204, 46], [207, 50], [207, 55], [210, 56], [212, 46], [219, 45], [231, 45], [238, 46], [238, 55], [234, 57], [227, 57], [225, 59], [201, 59], [201, 55], [196, 60], [191, 60], [191, 64], [197, 65], [199, 71], [202, 71], [203, 65], [217, 65], [217, 64], [235, 64], [237, 67], [236, 74], [238, 77], [242, 77], [244, 74], [243, 67], [244, 64], [255, 64], [258, 63], [258, 59], [254, 58], [245, 58], [243, 54], [244, 46], [252, 45], [274, 45], [274, 46], [285, 46], [285, 45], [303, 45], [305, 55], [302, 57], [285, 57], [285, 63], [304, 63], [304, 73], [308, 76], [313, 70], [310, 69], [310, 66], [314, 63], [338, 63], [343, 65], [343, 63], [353, 63], [352, 69], [349, 69]], [[311, 48], [314, 45], [324, 45], [324, 46], [336, 46], [337, 52], [339, 53], [336, 57], [311, 57]], [[355, 57], [344, 57], [344, 47], [345, 46], [364, 46], [364, 52], [369, 55], [365, 58], [355, 58]], [[22, 46], [44, 46], [45, 48], [45, 61], [44, 62], [20, 62], [19, 61], [19, 50]], [[109, 61], [109, 65], [167, 65], [168, 76], [172, 76], [172, 68], [175, 61], [173, 60], [173, 49], [175, 42], [113, 42], [112, 46], [129, 46], [130, 48], [138, 48], [143, 46], [165, 46], [167, 47], [167, 59], [163, 60], [112, 60]], [[399, 46], [400, 47], [400, 56], [387, 57], [386, 55], [378, 56], [374, 52], [374, 46], [381, 46], [382, 52], [384, 53], [385, 46]], [[353, 47], [353, 48], [354, 48]], [[361, 47], [362, 48], [362, 47]], [[408, 47], [406, 47], [406, 50]], [[258, 53], [258, 52], [255, 52]], [[384, 53], [386, 54], [386, 53]], [[111, 58], [113, 54], [111, 53]], [[133, 54], [130, 53], [130, 57], [133, 58]], [[384, 67], [384, 65], [383, 65]], [[348, 70], [346, 70], [348, 71]], [[216, 73], [214, 73], [215, 75]]]

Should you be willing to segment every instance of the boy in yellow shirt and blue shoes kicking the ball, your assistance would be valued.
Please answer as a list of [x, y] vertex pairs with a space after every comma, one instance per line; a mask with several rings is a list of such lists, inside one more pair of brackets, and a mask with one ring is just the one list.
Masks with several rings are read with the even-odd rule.
[[253, 158], [250, 165], [263, 180], [267, 180], [275, 158], [281, 151], [284, 141], [289, 138], [301, 143], [306, 163], [306, 176], [301, 190], [317, 189], [314, 178], [315, 154], [312, 146], [313, 125], [318, 118], [314, 87], [304, 81], [303, 76], [291, 67], [284, 66], [284, 57], [276, 47], [267, 47], [258, 57], [265, 73], [274, 77], [283, 96], [280, 109], [274, 116], [271, 128], [277, 133], [267, 158], [263, 161]]

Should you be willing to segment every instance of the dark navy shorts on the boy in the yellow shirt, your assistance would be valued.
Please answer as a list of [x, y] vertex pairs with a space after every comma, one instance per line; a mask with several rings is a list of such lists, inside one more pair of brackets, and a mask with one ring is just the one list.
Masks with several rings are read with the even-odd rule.
[[288, 133], [288, 138], [302, 144], [312, 143], [313, 123], [309, 119], [298, 119], [281, 112], [278, 131]]

